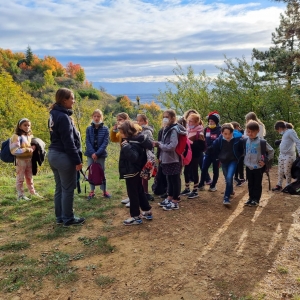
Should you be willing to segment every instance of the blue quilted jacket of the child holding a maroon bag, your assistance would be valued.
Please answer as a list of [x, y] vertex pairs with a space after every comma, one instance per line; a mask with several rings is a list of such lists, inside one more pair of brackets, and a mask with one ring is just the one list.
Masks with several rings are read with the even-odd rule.
[[[95, 153], [97, 157], [107, 157], [107, 145], [108, 145], [108, 137], [109, 130], [103, 123], [98, 127], [98, 136], [94, 136], [95, 125], [92, 124], [86, 129], [86, 151], [84, 153], [85, 156], [92, 157]], [[94, 139], [97, 138], [98, 149], [94, 149]]]

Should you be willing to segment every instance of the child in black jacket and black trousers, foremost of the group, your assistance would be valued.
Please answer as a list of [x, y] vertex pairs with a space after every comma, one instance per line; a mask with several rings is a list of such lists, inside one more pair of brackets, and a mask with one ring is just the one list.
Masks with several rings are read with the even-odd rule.
[[[124, 225], [139, 225], [142, 218], [152, 220], [151, 206], [146, 198], [140, 172], [147, 162], [146, 149], [152, 149], [152, 142], [138, 133], [132, 121], [125, 121], [119, 127], [122, 138], [119, 172], [120, 179], [126, 180], [127, 193], [130, 199], [131, 217], [124, 220]], [[140, 214], [140, 207], [143, 211]]]

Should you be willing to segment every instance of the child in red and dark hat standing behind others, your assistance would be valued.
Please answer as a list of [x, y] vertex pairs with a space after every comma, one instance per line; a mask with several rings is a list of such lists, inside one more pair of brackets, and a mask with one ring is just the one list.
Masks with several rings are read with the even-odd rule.
[[[206, 142], [206, 147], [210, 147], [213, 142], [221, 134], [220, 115], [217, 111], [213, 111], [208, 114], [208, 126], [204, 129], [204, 137]], [[203, 158], [201, 180], [199, 183], [199, 191], [205, 191], [204, 182], [207, 178], [207, 173], [210, 165], [213, 164], [213, 181], [210, 184], [209, 191], [215, 192], [217, 190], [216, 184], [219, 178], [219, 159], [215, 154], [205, 153]]]

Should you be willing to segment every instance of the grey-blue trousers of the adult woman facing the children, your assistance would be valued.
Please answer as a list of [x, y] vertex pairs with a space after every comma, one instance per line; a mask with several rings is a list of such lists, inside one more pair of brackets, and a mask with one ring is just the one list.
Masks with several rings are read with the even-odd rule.
[[76, 188], [76, 166], [64, 152], [49, 149], [48, 161], [55, 179], [55, 216], [56, 221], [64, 223], [74, 219], [73, 202]]

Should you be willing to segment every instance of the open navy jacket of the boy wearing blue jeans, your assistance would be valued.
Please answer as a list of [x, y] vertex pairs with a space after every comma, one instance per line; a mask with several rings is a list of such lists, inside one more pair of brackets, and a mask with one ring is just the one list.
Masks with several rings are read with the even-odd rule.
[[[227, 144], [224, 144], [227, 143]], [[228, 147], [230, 145], [230, 147]], [[232, 138], [230, 142], [223, 139], [220, 135], [213, 144], [207, 149], [208, 154], [213, 154], [223, 163], [238, 161], [244, 154], [244, 144], [241, 138]]]

